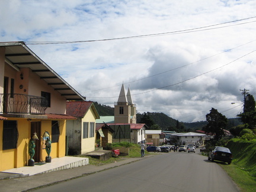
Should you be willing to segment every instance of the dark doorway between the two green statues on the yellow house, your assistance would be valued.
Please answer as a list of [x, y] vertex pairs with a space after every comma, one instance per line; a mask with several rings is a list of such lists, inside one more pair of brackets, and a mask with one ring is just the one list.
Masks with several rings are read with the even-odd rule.
[[31, 122], [31, 128], [30, 128], [30, 138], [33, 137], [34, 133], [37, 134], [37, 137], [39, 139], [36, 139], [35, 145], [35, 154], [34, 154], [34, 162], [40, 162], [41, 161], [41, 122]]

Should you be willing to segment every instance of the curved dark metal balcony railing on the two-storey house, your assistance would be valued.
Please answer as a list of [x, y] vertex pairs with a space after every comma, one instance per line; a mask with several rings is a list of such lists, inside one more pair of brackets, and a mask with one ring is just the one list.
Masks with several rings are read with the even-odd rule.
[[0, 113], [45, 114], [47, 99], [25, 94], [0, 94]]

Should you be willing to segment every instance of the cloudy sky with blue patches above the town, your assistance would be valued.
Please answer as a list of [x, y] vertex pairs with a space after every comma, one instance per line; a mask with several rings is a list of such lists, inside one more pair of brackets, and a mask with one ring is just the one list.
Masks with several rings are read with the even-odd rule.
[[[205, 121], [256, 94], [256, 1], [0, 1], [0, 41], [24, 41], [87, 101]], [[235, 103], [235, 104], [231, 104]]]

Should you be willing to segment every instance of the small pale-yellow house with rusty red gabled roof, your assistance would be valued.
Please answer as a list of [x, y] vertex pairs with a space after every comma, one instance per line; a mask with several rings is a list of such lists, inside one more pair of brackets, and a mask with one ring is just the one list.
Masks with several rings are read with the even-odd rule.
[[69, 154], [78, 155], [95, 150], [95, 121], [100, 119], [92, 101], [67, 101], [66, 113], [76, 117], [67, 121]]

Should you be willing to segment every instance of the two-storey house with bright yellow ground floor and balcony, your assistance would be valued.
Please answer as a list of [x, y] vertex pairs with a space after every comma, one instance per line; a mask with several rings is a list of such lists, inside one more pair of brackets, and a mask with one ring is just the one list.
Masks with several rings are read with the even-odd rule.
[[[84, 100], [24, 42], [0, 43], [0, 171], [28, 165], [28, 143], [37, 135], [35, 162], [65, 156], [66, 100]], [[35, 134], [36, 133], [36, 134]], [[46, 134], [47, 133], [47, 134]]]

